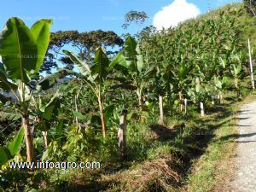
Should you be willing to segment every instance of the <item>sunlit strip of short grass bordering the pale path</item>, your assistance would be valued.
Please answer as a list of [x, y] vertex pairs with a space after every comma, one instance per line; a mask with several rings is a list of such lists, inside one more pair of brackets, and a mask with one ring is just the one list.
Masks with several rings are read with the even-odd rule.
[[[212, 191], [224, 190], [225, 182], [232, 176], [230, 160], [236, 155], [238, 136], [236, 129], [237, 112], [241, 106], [256, 100], [256, 95], [246, 96], [242, 102], [235, 102], [225, 108], [216, 119], [218, 129], [214, 131], [215, 137], [209, 143], [205, 154], [192, 166], [193, 172], [187, 180], [186, 191]], [[214, 115], [214, 114], [213, 114]]]

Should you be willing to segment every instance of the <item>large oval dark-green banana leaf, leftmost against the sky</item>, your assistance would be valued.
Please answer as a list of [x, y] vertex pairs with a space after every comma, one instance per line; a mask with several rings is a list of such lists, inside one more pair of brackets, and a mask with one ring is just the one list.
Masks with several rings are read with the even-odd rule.
[[[13, 80], [28, 82], [37, 68], [38, 47], [30, 29], [18, 18], [9, 19], [1, 34], [0, 55], [6, 73]], [[15, 55], [15, 56], [14, 56]]]

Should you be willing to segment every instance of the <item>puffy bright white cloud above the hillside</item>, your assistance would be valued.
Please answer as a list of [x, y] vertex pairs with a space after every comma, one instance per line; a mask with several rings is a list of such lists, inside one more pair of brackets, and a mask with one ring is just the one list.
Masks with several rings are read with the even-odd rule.
[[169, 28], [197, 15], [200, 15], [200, 9], [195, 4], [188, 3], [187, 0], [174, 0], [154, 15], [153, 25], [159, 30], [162, 27]]

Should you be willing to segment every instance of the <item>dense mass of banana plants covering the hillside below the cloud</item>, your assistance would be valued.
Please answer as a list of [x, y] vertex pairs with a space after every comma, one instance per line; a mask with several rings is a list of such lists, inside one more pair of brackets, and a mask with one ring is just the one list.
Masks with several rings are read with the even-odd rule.
[[244, 61], [241, 55], [246, 50], [238, 44], [239, 26], [235, 18], [227, 16], [239, 13], [229, 9], [219, 11], [216, 17], [186, 21], [177, 29], [144, 32], [141, 36], [144, 61], [158, 68], [149, 91], [160, 95], [167, 92], [169, 101], [188, 98], [206, 102], [212, 95], [211, 82], [230, 76], [230, 67]]

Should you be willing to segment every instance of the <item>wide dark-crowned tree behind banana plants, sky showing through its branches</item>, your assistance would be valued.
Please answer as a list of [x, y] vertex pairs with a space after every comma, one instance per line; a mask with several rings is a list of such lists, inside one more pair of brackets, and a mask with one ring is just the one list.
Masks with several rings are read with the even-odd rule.
[[121, 47], [123, 44], [123, 40], [112, 31], [52, 32], [49, 50], [40, 72], [45, 71], [46, 73], [51, 73], [51, 69], [57, 67], [60, 62], [64, 64], [65, 68], [73, 69], [73, 61], [61, 51], [65, 49], [65, 46], [72, 46], [80, 60], [91, 63], [96, 48], [103, 47], [107, 50], [107, 55], [112, 55], [115, 53], [116, 47]]

